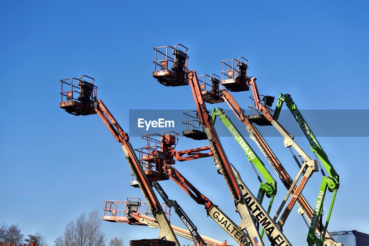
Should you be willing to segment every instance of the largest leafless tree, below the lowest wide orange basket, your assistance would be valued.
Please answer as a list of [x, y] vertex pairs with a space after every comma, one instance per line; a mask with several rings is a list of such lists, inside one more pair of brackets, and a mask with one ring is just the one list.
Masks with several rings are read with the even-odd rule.
[[65, 246], [104, 246], [105, 233], [101, 231], [101, 220], [97, 210], [82, 213], [76, 221], [66, 225], [64, 231]]

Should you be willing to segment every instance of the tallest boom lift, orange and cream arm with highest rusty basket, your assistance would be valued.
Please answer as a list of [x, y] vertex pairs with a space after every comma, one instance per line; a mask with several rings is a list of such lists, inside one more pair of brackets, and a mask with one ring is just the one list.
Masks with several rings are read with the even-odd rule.
[[[180, 50], [180, 47], [184, 50]], [[186, 51], [188, 49], [181, 44], [177, 44], [173, 47], [156, 47], [154, 50], [155, 71], [152, 76], [156, 78], [159, 83], [165, 86], [180, 86], [188, 85], [190, 83], [200, 122], [206, 128], [207, 138], [210, 141], [211, 148], [214, 152], [214, 158], [220, 163], [220, 171], [224, 174], [223, 176], [228, 188], [230, 189], [235, 206], [237, 207], [237, 212], [241, 216], [241, 224], [239, 225], [239, 228], [246, 230], [250, 239], [252, 238], [254, 241], [254, 245], [258, 245], [259, 243], [259, 245], [262, 246], [263, 242], [260, 234], [252, 220], [251, 213], [248, 210], [245, 199], [242, 196], [242, 192], [237, 185], [237, 181], [235, 180], [227, 157], [224, 154], [224, 150], [220, 145], [213, 126], [211, 125], [211, 117], [206, 110], [197, 75], [194, 71], [188, 71], [187, 69], [188, 55], [186, 54]], [[168, 53], [168, 51], [172, 51], [173, 57], [171, 57], [171, 54]], [[170, 67], [169, 64], [172, 66]], [[211, 130], [209, 131], [209, 129]]]

